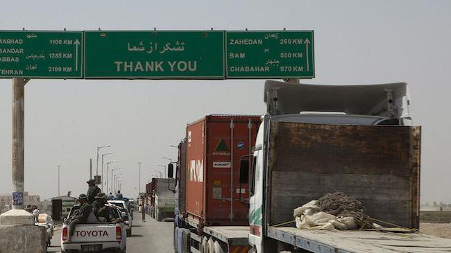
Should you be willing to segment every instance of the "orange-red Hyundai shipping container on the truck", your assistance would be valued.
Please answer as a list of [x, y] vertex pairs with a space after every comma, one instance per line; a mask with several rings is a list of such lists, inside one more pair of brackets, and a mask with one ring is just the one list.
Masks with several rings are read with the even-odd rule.
[[[205, 225], [248, 225], [239, 160], [253, 152], [260, 116], [209, 115], [187, 125], [186, 211]], [[232, 197], [232, 199], [231, 199]]]

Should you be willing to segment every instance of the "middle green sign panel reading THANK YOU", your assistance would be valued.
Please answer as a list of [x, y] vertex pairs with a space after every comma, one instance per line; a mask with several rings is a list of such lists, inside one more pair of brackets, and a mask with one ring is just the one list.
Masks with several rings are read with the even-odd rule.
[[221, 30], [85, 31], [85, 78], [223, 79]]

